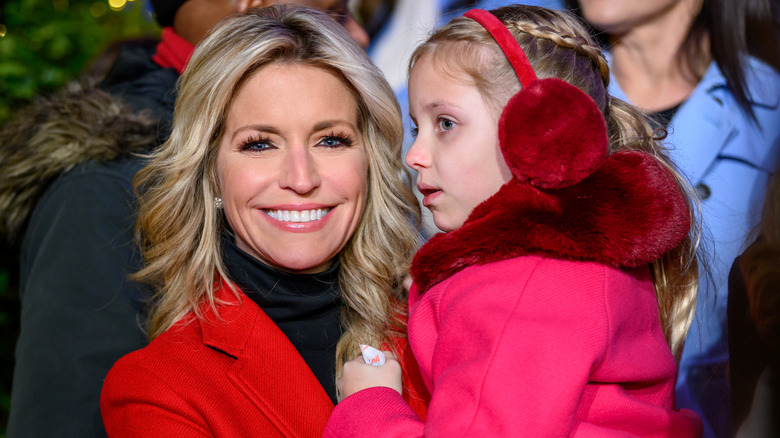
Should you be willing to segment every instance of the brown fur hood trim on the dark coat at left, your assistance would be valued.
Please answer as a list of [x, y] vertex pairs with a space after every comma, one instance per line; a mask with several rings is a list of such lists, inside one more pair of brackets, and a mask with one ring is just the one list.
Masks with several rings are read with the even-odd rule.
[[148, 151], [157, 122], [94, 83], [66, 86], [18, 111], [0, 130], [0, 238], [15, 242], [36, 202], [79, 163]]

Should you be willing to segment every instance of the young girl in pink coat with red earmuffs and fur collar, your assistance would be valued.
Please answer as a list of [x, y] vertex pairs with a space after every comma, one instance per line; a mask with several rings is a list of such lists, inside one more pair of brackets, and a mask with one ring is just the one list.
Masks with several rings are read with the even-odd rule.
[[392, 356], [358, 359], [325, 435], [699, 435], [674, 406], [696, 295], [687, 191], [642, 114], [607, 95], [587, 31], [473, 10], [410, 65], [406, 162], [445, 231], [411, 270], [431, 401], [420, 419]]

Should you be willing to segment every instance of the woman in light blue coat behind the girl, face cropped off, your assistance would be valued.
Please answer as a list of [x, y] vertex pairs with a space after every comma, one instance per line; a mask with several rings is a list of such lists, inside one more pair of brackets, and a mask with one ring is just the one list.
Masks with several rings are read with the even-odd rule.
[[770, 0], [570, 0], [609, 46], [610, 93], [655, 114], [701, 198], [711, 257], [677, 401], [731, 436], [727, 278], [780, 161], [780, 48]]

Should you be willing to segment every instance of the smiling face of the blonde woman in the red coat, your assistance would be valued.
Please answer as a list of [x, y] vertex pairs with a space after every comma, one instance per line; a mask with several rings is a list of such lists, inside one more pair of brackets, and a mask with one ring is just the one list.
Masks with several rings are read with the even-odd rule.
[[335, 74], [271, 64], [228, 109], [217, 156], [239, 248], [268, 265], [322, 272], [355, 232], [368, 160], [357, 103]]

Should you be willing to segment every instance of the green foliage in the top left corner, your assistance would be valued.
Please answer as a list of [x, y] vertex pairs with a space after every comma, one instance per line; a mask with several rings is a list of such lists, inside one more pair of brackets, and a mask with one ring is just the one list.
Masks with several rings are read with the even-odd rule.
[[0, 13], [0, 125], [78, 76], [112, 43], [159, 30], [145, 0], [8, 0]]

